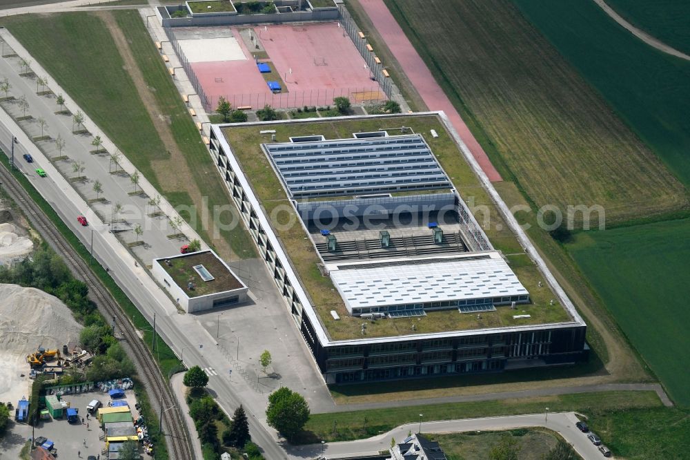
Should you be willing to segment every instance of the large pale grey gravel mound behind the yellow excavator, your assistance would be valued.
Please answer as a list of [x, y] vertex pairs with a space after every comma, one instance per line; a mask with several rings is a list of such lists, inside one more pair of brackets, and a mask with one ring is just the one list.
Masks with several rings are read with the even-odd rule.
[[39, 346], [62, 349], [81, 325], [57, 297], [39, 289], [0, 285], [0, 354], [26, 356]]

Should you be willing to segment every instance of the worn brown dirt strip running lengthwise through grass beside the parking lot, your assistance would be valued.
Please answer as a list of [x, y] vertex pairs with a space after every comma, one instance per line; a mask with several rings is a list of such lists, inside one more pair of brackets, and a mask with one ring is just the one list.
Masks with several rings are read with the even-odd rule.
[[[119, 49], [120, 55], [125, 62], [125, 66], [127, 67], [126, 70], [128, 70], [130, 77], [132, 77], [132, 82], [134, 82], [137, 88], [137, 93], [139, 93], [141, 101], [144, 102], [144, 106], [148, 110], [153, 126], [155, 126], [161, 141], [168, 153], [170, 153], [170, 157], [168, 157], [167, 160], [157, 160], [151, 164], [159, 184], [164, 187], [164, 190], [161, 192], [186, 191], [192, 199], [192, 202], [199, 208], [198, 214], [199, 218], [202, 220], [201, 224], [205, 229], [208, 229], [208, 236], [212, 238], [214, 233], [212, 231], [214, 226], [213, 213], [201, 212], [201, 191], [193, 180], [188, 180], [188, 178], [192, 177], [192, 173], [187, 164], [187, 160], [184, 155], [182, 155], [181, 151], [179, 151], [177, 142], [175, 142], [175, 137], [170, 130], [168, 119], [161, 113], [156, 99], [151, 93], [151, 88], [146, 85], [144, 75], [141, 74], [137, 61], [134, 55], [132, 55], [132, 50], [129, 47], [127, 38], [117, 26], [117, 21], [115, 21], [115, 17], [113, 17], [110, 12], [99, 11], [94, 14], [106, 24], [112, 39], [115, 41], [115, 46]], [[215, 247], [221, 256], [230, 257], [232, 251], [230, 250], [230, 245], [224, 238], [212, 238], [210, 244]]]

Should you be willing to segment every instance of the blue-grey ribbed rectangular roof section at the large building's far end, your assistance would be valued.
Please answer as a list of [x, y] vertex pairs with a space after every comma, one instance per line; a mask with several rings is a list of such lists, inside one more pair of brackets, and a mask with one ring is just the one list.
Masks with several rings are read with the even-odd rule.
[[264, 147], [293, 198], [451, 188], [420, 135]]

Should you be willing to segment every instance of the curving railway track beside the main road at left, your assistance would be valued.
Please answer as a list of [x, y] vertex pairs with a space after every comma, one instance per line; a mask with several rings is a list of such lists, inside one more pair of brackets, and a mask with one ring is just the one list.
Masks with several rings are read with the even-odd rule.
[[[75, 253], [74, 249], [72, 249], [67, 240], [63, 238], [62, 234], [50, 221], [48, 216], [41, 211], [38, 204], [28, 198], [23, 187], [19, 184], [19, 181], [10, 174], [10, 171], [8, 171], [4, 165], [0, 167], [0, 179], [2, 180], [3, 189], [30, 220], [34, 229], [55, 247], [72, 271], [74, 271], [83, 282], [86, 282], [101, 312], [104, 312], [115, 320], [116, 330], [121, 333], [122, 340], [132, 349], [131, 357], [138, 365], [139, 369], [144, 371], [139, 376], [139, 379], [144, 383], [144, 386], [152, 392], [155, 401], [162, 404], [164, 411], [173, 408], [176, 405], [176, 401], [170, 393], [153, 356], [137, 335], [134, 325], [130, 323], [130, 320], [124, 312], [122, 312], [119, 305], [112, 299], [108, 290], [101, 284], [97, 276], [92, 273], [86, 262]], [[108, 318], [108, 316], [106, 316], [106, 318]], [[179, 410], [166, 412], [166, 416], [164, 416], [164, 425], [166, 443], [168, 444], [168, 456], [170, 459], [192, 460], [191, 446], [188, 442], [188, 437]]]

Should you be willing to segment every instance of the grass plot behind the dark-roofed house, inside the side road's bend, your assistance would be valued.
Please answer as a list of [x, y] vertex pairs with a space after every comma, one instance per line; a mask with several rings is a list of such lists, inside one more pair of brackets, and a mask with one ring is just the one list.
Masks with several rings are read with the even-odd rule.
[[[485, 431], [449, 434], [425, 434], [438, 441], [448, 460], [489, 459], [491, 450], [506, 437], [515, 442], [519, 460], [541, 460], [549, 453], [560, 435], [545, 428], [521, 428], [508, 431]], [[396, 439], [402, 442], [402, 439]], [[516, 459], [516, 460], [517, 460]]]

